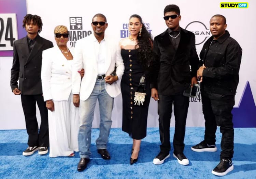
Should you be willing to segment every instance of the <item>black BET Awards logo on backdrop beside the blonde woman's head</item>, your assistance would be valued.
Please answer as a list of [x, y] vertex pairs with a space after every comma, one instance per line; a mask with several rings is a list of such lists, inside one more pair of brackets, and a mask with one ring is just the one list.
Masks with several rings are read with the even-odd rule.
[[75, 47], [76, 41], [91, 35], [91, 31], [83, 31], [83, 21], [82, 17], [69, 17], [70, 31], [69, 31], [69, 41], [70, 46]]

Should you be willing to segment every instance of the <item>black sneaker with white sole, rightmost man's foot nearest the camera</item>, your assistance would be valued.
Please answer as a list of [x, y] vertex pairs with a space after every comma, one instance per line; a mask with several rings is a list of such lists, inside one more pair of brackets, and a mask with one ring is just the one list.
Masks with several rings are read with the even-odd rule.
[[234, 169], [233, 163], [230, 160], [222, 159], [219, 164], [212, 170], [212, 174], [217, 176], [227, 175]]

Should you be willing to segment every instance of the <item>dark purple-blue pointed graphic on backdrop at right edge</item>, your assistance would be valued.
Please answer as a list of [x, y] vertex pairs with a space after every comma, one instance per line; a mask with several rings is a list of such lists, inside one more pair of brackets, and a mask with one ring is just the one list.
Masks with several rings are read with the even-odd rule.
[[232, 110], [234, 127], [256, 127], [256, 106], [247, 81], [238, 107]]

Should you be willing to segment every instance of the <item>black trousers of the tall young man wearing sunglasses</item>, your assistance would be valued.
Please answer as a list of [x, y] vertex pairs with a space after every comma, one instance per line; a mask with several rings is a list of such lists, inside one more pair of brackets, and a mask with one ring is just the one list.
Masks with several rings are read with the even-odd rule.
[[184, 137], [186, 129], [189, 98], [180, 95], [159, 95], [158, 115], [161, 151], [169, 153], [170, 144], [170, 120], [172, 116], [172, 104], [174, 105], [175, 132], [173, 137], [174, 152], [182, 153], [184, 150]]

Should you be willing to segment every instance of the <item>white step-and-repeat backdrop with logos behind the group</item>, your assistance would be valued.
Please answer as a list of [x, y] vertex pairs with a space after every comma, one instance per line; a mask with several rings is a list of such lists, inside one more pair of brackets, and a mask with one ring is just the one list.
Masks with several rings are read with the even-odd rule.
[[[192, 31], [196, 36], [199, 54], [204, 42], [211, 36], [209, 20], [215, 14], [227, 19], [227, 30], [243, 49], [240, 81], [233, 109], [235, 127], [256, 127], [256, 1], [205, 1], [205, 0], [0, 0], [0, 129], [25, 129], [25, 119], [20, 96], [10, 88], [13, 42], [26, 36], [22, 28], [23, 17], [30, 14], [41, 16], [43, 28], [40, 36], [54, 40], [54, 28], [65, 25], [70, 32], [68, 45], [76, 46], [76, 41], [93, 34], [92, 17], [97, 13], [106, 16], [109, 23], [106, 35], [113, 40], [129, 36], [128, 22], [132, 14], [139, 14], [147, 30], [153, 37], [167, 29], [163, 20], [163, 9], [168, 4], [176, 4], [181, 10], [180, 26]], [[37, 111], [40, 123], [39, 111]], [[99, 127], [99, 109], [96, 107], [93, 127]], [[112, 112], [112, 127], [122, 126], [122, 96], [115, 98]], [[174, 116], [171, 126], [174, 126]], [[187, 127], [204, 126], [200, 93], [191, 98], [187, 117]], [[157, 102], [153, 99], [148, 111], [148, 127], [158, 127]]]

